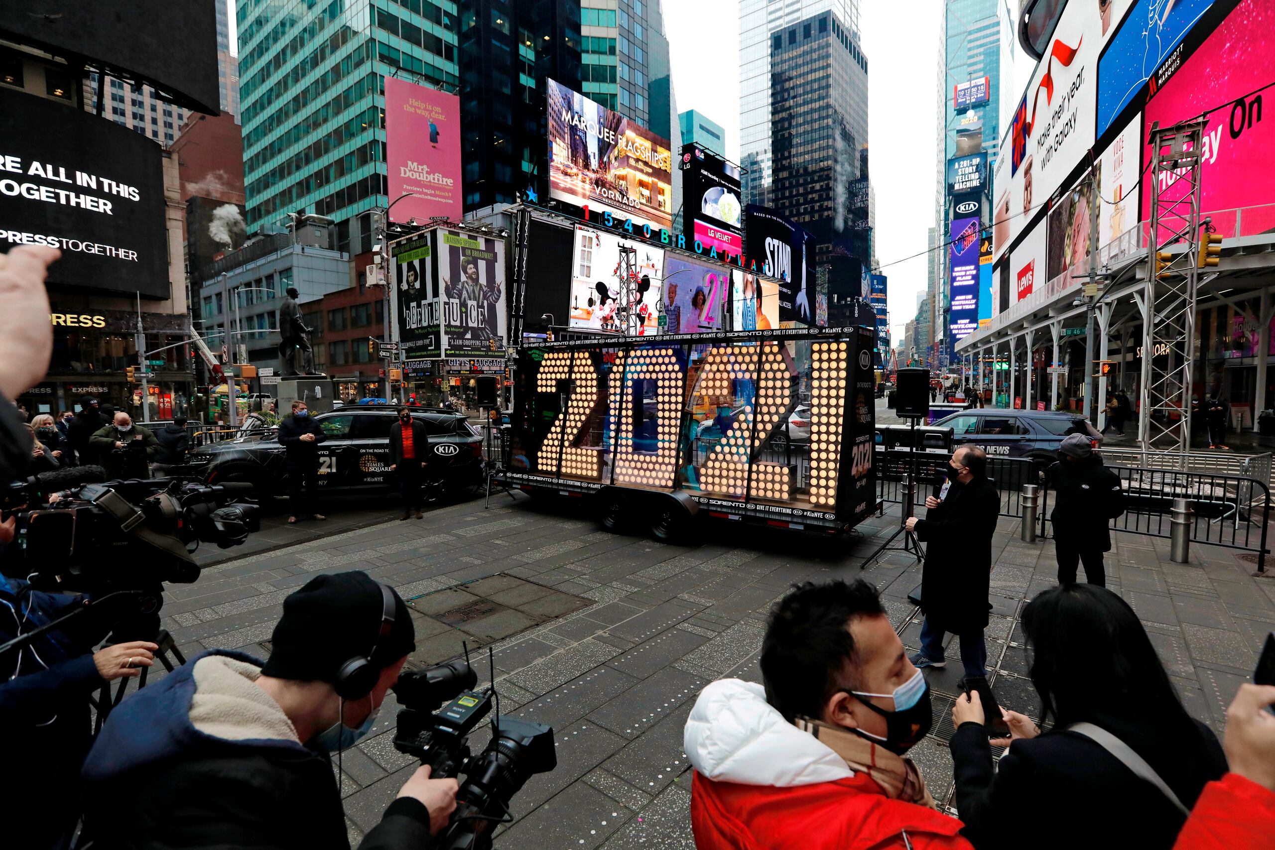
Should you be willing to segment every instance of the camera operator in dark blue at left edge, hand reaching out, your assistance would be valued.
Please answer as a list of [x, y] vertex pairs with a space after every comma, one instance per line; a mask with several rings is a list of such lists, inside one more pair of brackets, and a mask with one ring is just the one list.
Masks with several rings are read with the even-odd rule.
[[[13, 540], [14, 519], [0, 524], [0, 543]], [[0, 644], [57, 619], [83, 596], [31, 590], [0, 576]], [[91, 743], [89, 696], [103, 682], [136, 677], [150, 666], [154, 644], [133, 641], [93, 652], [107, 626], [83, 614], [64, 628], [0, 655], [0, 723], [5, 765], [0, 799], [13, 813], [41, 813], [28, 825], [24, 847], [65, 847], [75, 828], [80, 765]], [[56, 793], [57, 805], [50, 805]]]

